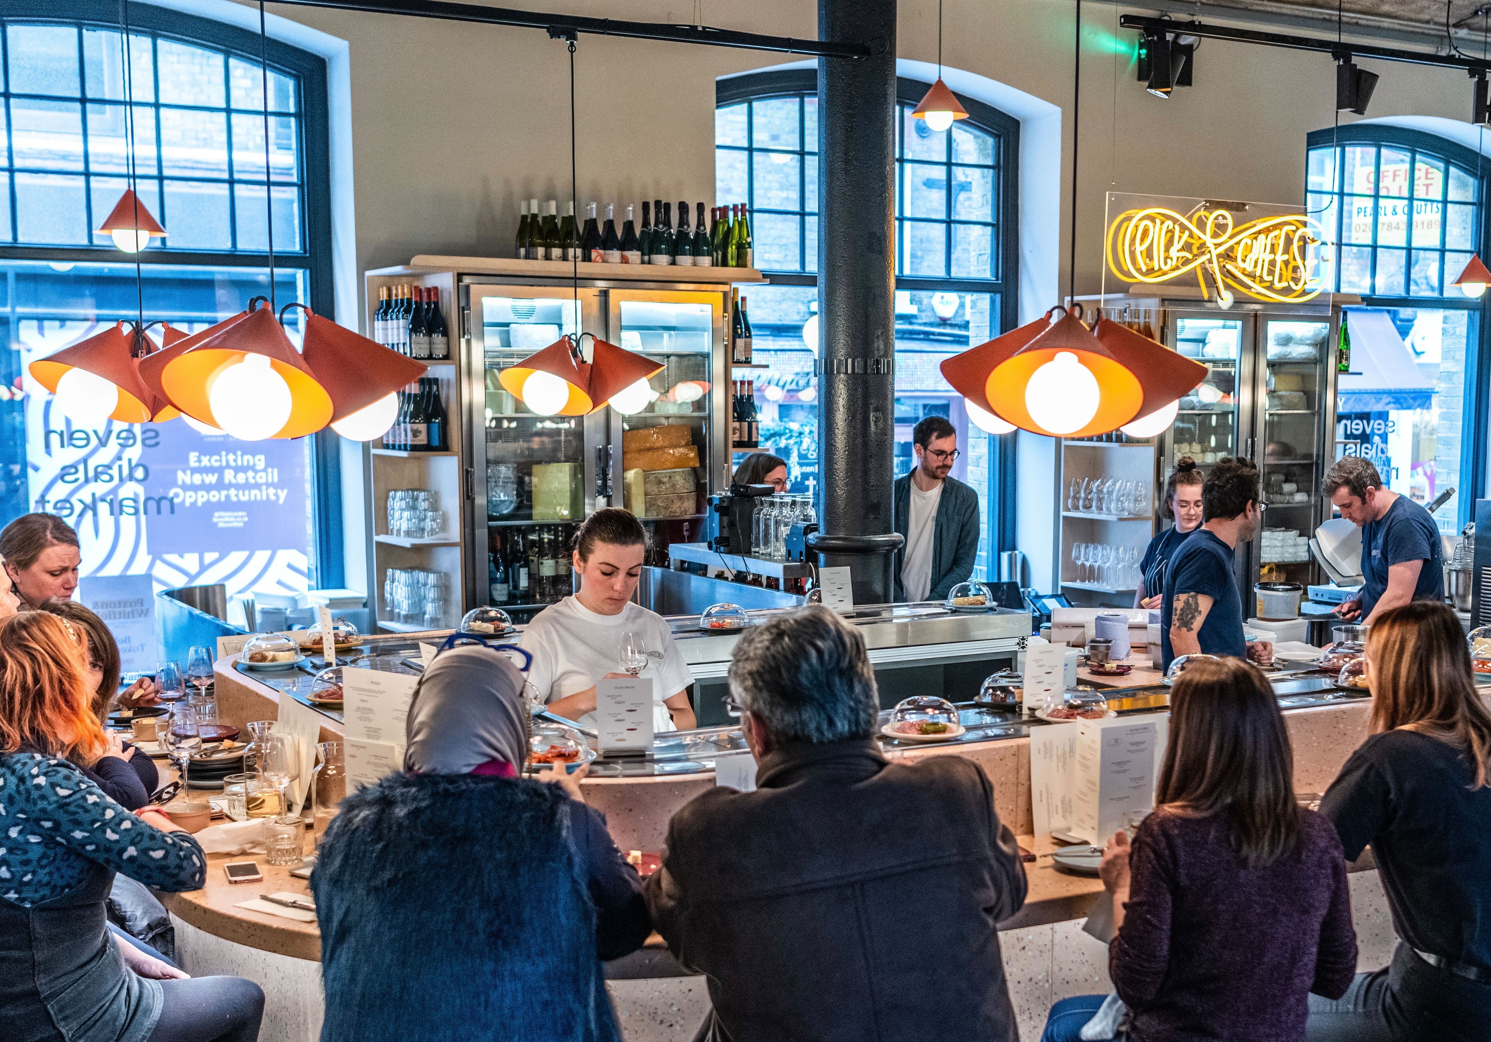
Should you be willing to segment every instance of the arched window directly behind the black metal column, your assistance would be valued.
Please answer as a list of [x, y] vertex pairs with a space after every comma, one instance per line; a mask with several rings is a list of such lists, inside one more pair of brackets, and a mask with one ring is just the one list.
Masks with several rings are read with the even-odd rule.
[[[914, 465], [911, 429], [945, 416], [963, 455], [954, 477], [984, 507], [975, 575], [987, 575], [990, 532], [1000, 546], [997, 440], [968, 423], [963, 400], [938, 364], [1015, 323], [1020, 124], [962, 98], [969, 119], [932, 131], [912, 119], [927, 85], [896, 83], [896, 474]], [[754, 377], [763, 447], [789, 461], [802, 490], [817, 481], [817, 79], [811, 72], [719, 80], [714, 113], [716, 204], [746, 203], [756, 265], [769, 286], [743, 288], [754, 329]], [[994, 522], [994, 523], [992, 523]], [[1005, 538], [1012, 538], [1012, 525]]]

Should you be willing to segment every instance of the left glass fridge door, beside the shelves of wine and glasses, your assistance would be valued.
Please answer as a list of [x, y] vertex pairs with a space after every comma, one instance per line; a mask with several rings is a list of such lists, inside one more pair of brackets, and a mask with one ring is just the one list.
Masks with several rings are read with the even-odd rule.
[[462, 309], [470, 337], [462, 400], [470, 410], [467, 481], [476, 562], [467, 577], [467, 604], [495, 604], [514, 622], [526, 622], [571, 592], [570, 537], [598, 502], [607, 505], [598, 493], [596, 465], [607, 450], [607, 416], [604, 410], [538, 414], [502, 389], [498, 373], [562, 334], [602, 334], [602, 297], [570, 286], [468, 283]]

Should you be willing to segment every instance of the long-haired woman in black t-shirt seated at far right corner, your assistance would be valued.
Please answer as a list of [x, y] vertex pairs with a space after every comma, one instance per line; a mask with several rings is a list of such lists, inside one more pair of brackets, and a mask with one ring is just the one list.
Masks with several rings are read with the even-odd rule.
[[1311, 1042], [1491, 1041], [1491, 711], [1455, 613], [1413, 601], [1367, 638], [1372, 730], [1321, 802], [1348, 859], [1372, 844], [1400, 944]]

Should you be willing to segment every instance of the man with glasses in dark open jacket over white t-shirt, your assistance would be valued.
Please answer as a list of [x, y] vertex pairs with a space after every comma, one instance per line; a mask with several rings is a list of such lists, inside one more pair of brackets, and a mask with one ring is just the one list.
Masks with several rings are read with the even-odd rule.
[[978, 493], [948, 477], [957, 459], [957, 431], [944, 416], [927, 416], [911, 432], [915, 470], [896, 479], [895, 529], [898, 602], [942, 601], [968, 581], [978, 559]]

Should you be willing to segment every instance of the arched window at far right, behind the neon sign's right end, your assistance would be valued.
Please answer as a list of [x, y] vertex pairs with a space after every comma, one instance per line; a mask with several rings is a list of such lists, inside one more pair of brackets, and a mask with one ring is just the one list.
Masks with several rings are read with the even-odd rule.
[[[1485, 487], [1482, 301], [1449, 285], [1485, 241], [1481, 165], [1491, 168], [1455, 142], [1381, 124], [1308, 139], [1306, 204], [1330, 246], [1325, 285], [1388, 318], [1357, 326], [1348, 309], [1354, 335], [1373, 340], [1354, 350], [1363, 374], [1342, 377], [1337, 452], [1369, 456], [1394, 492], [1424, 505], [1455, 489], [1434, 511], [1446, 534]], [[1375, 376], [1378, 355], [1396, 358], [1399, 374], [1416, 371], [1421, 386]]]

